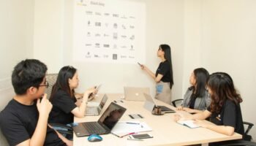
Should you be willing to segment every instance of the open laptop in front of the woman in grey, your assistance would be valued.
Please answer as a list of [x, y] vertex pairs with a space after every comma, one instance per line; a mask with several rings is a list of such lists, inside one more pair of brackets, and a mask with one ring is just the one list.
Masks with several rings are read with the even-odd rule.
[[145, 104], [144, 104], [144, 108], [145, 108], [146, 110], [152, 112], [152, 110], [154, 110], [154, 107], [160, 107], [160, 108], [161, 108], [161, 111], [164, 112], [164, 113], [173, 113], [173, 112], [175, 112], [175, 110], [171, 110], [171, 109], [168, 108], [168, 107], [157, 105], [157, 104], [154, 102], [154, 99], [153, 99], [150, 95], [144, 93], [144, 96], [145, 96], [145, 98], [146, 98], [146, 102], [145, 102]]

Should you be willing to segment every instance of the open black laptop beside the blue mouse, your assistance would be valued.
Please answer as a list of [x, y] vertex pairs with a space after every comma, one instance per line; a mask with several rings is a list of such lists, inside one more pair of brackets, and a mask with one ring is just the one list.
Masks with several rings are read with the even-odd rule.
[[126, 110], [124, 107], [111, 102], [98, 121], [73, 124], [75, 125], [72, 126], [73, 131], [77, 137], [85, 137], [91, 134], [109, 134]]

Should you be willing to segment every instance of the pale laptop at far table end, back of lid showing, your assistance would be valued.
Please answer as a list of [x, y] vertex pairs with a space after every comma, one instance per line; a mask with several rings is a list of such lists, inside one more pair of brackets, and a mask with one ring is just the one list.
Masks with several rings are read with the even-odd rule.
[[146, 101], [143, 93], [149, 94], [149, 88], [124, 87], [124, 98], [127, 101]]

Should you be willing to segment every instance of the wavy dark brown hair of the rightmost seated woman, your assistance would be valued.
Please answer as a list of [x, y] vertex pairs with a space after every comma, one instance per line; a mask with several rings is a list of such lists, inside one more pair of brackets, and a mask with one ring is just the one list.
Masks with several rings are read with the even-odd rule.
[[211, 112], [219, 112], [227, 99], [235, 104], [243, 101], [236, 91], [232, 78], [225, 72], [211, 74], [207, 85], [211, 90]]

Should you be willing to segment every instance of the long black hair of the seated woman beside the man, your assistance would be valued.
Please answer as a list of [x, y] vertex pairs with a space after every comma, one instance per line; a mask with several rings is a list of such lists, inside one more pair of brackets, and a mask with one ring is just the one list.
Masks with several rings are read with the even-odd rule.
[[69, 79], [74, 77], [75, 72], [77, 72], [77, 69], [75, 69], [73, 66], [64, 66], [61, 68], [56, 83], [53, 85], [53, 90], [49, 99], [50, 101], [53, 100], [54, 95], [57, 91], [59, 91], [59, 89], [66, 91], [72, 98], [74, 97], [74, 90], [71, 91], [69, 87]]

